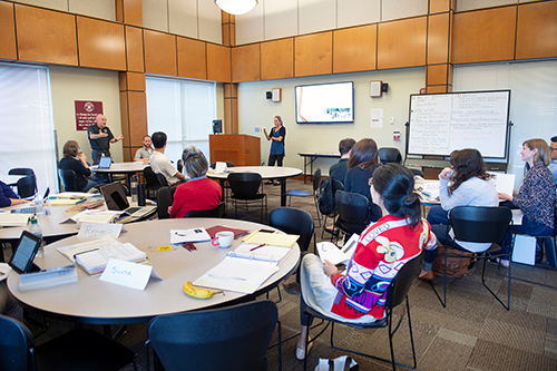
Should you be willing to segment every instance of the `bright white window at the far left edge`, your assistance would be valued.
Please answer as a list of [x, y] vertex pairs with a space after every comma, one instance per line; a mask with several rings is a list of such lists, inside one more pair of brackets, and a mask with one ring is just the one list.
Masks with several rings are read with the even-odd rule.
[[0, 174], [30, 167], [39, 193], [58, 189], [49, 72], [0, 64]]

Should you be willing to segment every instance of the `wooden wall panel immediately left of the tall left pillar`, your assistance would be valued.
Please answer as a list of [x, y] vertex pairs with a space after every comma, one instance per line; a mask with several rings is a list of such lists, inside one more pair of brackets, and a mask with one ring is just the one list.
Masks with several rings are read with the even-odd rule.
[[79, 66], [126, 70], [124, 26], [77, 17]]

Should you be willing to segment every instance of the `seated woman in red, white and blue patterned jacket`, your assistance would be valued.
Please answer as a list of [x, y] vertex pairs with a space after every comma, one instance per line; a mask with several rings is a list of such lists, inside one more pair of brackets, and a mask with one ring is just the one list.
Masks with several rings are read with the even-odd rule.
[[384, 316], [387, 287], [402, 265], [420, 255], [422, 248], [437, 246], [428, 222], [421, 218], [420, 197], [413, 192], [414, 178], [409, 169], [397, 164], [381, 166], [369, 184], [383, 216], [360, 235], [345, 274], [313, 254], [302, 260], [302, 331], [296, 348], [300, 360], [304, 359], [311, 325], [304, 314], [306, 305], [346, 322], [380, 320]]

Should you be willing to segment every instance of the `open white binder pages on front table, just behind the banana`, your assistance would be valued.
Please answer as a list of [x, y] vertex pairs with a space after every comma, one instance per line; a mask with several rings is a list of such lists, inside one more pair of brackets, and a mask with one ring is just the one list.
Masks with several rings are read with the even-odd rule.
[[226, 256], [222, 263], [197, 279], [194, 284], [252, 294], [278, 270], [276, 264], [268, 262]]

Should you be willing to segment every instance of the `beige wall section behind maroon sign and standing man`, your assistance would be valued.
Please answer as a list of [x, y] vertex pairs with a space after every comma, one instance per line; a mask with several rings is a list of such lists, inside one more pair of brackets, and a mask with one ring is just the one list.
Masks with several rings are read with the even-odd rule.
[[[58, 158], [67, 140], [77, 140], [91, 162], [91, 147], [87, 131], [76, 129], [75, 100], [102, 101], [107, 126], [117, 137], [121, 134], [118, 72], [72, 67], [50, 67], [52, 116], [58, 134]], [[124, 160], [121, 141], [110, 145], [115, 163]]]

